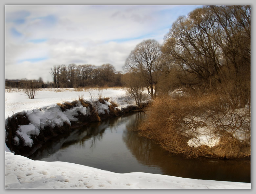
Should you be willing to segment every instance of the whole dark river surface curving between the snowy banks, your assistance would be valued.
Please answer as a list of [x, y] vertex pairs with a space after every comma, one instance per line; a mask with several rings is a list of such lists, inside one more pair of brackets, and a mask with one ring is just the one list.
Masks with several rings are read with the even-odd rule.
[[129, 114], [59, 136], [29, 158], [63, 161], [117, 173], [147, 172], [193, 179], [247, 182], [250, 160], [184, 159], [172, 156], [132, 128], [143, 113]]

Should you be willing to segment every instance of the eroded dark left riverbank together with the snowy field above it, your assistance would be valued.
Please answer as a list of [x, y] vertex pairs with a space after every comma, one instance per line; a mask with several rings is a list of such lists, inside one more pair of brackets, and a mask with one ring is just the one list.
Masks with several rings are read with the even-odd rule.
[[[23, 95], [19, 91], [18, 93], [13, 91], [13, 93], [16, 96]], [[50, 100], [45, 100], [47, 99], [43, 97], [46, 95], [45, 93], [53, 99], [56, 93], [62, 93], [62, 97], [65, 97], [66, 100], [42, 106], [44, 101], [49, 103]], [[114, 96], [113, 93], [118, 94]], [[11, 94], [12, 92], [7, 93], [7, 96], [10, 97]], [[74, 94], [77, 95], [77, 98], [74, 98]], [[24, 110], [6, 118], [6, 145], [15, 154], [29, 156], [54, 136], [69, 133], [72, 129], [89, 122], [101, 121], [138, 110], [138, 106], [133, 103], [133, 100], [123, 94], [123, 90], [79, 92], [74, 89], [63, 89], [57, 92], [41, 90], [38, 91], [38, 96], [27, 102], [32, 102], [37, 106], [41, 105], [41, 107]], [[19, 100], [19, 102], [23, 102], [21, 99]], [[23, 100], [26, 102], [26, 99]], [[24, 106], [26, 103], [23, 103], [20, 104]], [[11, 105], [9, 102], [8, 106]], [[17, 107], [15, 108], [20, 109]]]

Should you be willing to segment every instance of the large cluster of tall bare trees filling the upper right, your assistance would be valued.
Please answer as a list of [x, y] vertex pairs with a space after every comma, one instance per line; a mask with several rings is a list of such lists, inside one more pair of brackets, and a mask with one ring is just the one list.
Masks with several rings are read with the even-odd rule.
[[205, 6], [178, 18], [162, 52], [178, 66], [183, 86], [206, 92], [232, 82], [225, 93], [244, 107], [250, 100], [250, 32], [250, 6]]

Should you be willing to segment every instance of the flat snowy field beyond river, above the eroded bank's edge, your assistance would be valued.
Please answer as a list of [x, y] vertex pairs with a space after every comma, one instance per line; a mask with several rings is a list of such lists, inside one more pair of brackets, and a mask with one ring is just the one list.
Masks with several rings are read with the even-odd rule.
[[[9, 92], [10, 91], [10, 92]], [[60, 92], [61, 91], [61, 92]], [[34, 99], [28, 99], [28, 96], [22, 90], [7, 90], [5, 92], [5, 118], [22, 111], [33, 110], [35, 108], [56, 106], [56, 103], [72, 102], [84, 97], [91, 101], [91, 96], [109, 97], [109, 102], [114, 102], [122, 108], [129, 105], [136, 105], [135, 101], [126, 95], [123, 89], [90, 89], [76, 92], [70, 89], [41, 89]]]

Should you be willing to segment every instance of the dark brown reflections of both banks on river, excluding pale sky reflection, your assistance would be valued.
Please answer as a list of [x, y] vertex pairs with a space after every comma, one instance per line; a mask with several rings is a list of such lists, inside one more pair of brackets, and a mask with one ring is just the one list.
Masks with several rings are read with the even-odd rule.
[[[241, 180], [245, 180], [245, 176], [250, 177], [250, 163], [244, 164], [243, 162], [236, 163], [231, 161], [210, 161], [210, 160], [186, 160], [177, 156], [170, 156], [165, 150], [161, 150], [158, 145], [149, 139], [139, 137], [135, 129], [141, 120], [145, 119], [144, 113], [128, 114], [125, 116], [104, 120], [102, 122], [91, 123], [90, 125], [83, 126], [76, 129], [69, 135], [58, 136], [53, 138], [48, 145], [39, 149], [34, 156], [30, 157], [34, 160], [45, 158], [54, 154], [59, 149], [68, 146], [83, 147], [85, 149], [86, 142], [90, 149], [94, 149], [97, 141], [101, 141], [104, 137], [105, 130], [109, 132], [117, 132], [120, 124], [126, 124], [126, 129], [123, 131], [122, 139], [126, 144], [127, 149], [135, 156], [135, 158], [142, 165], [160, 168], [162, 174], [181, 176], [187, 178], [197, 179], [217, 179], [216, 177], [227, 176], [229, 174], [229, 181], [239, 181], [234, 179], [239, 174]], [[121, 122], [120, 122], [121, 121]], [[121, 132], [121, 131], [118, 131]], [[57, 155], [58, 158], [60, 155]], [[240, 165], [240, 166], [239, 166]], [[247, 168], [248, 167], [248, 168]], [[211, 175], [212, 177], [209, 177]], [[250, 181], [250, 180], [249, 180]]]

